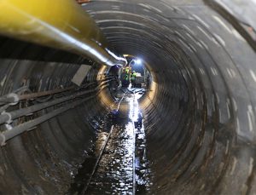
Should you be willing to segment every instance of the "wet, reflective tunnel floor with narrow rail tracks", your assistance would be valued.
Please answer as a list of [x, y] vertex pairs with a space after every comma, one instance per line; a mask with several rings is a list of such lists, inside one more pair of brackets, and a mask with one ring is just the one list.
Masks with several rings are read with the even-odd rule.
[[142, 93], [137, 92], [140, 90], [117, 92], [115, 109], [105, 121], [111, 129], [98, 135], [68, 194], [142, 194], [149, 190], [143, 115], [137, 101]]

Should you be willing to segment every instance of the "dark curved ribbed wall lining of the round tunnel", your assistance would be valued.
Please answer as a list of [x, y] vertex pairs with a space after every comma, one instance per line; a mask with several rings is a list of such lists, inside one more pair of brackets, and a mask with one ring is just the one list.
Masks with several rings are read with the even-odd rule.
[[[119, 54], [148, 63], [153, 81], [140, 106], [151, 193], [256, 192], [256, 55], [241, 34], [200, 0], [95, 1], [83, 7]], [[25, 85], [33, 92], [69, 87], [79, 64], [93, 64], [87, 82], [108, 72], [77, 55], [5, 37], [0, 49], [2, 95]], [[103, 89], [8, 141], [0, 149], [0, 192], [65, 192], [112, 102]]]

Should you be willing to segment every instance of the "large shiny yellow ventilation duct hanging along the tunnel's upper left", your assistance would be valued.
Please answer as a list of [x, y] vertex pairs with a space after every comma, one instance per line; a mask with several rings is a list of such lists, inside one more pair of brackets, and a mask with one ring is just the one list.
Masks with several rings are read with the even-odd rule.
[[0, 0], [0, 34], [64, 49], [108, 66], [126, 64], [74, 0]]

